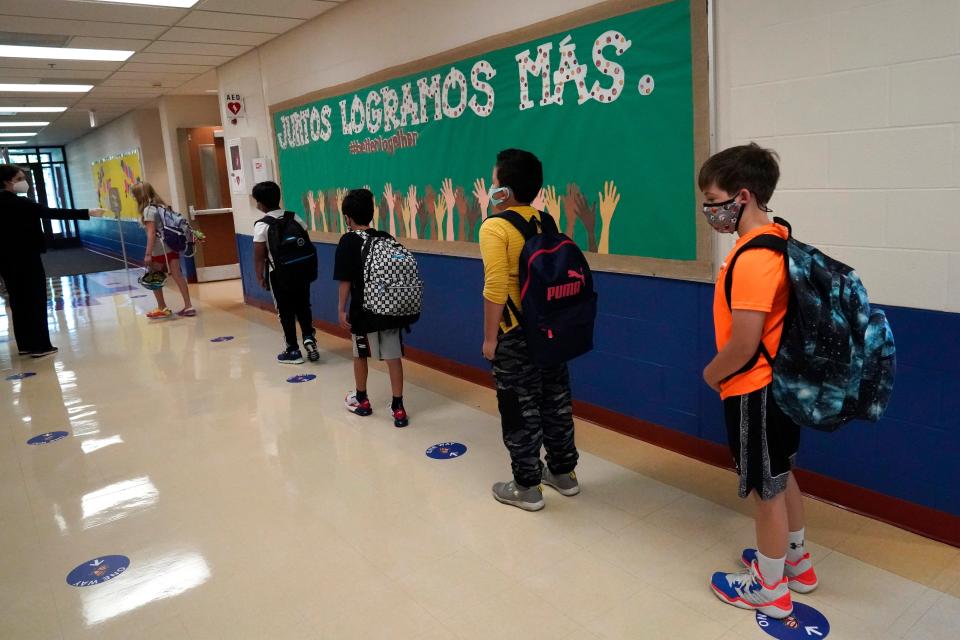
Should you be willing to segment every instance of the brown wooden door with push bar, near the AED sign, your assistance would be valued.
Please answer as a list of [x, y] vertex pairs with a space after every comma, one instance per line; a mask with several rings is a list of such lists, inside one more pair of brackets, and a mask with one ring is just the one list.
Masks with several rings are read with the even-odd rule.
[[178, 129], [190, 223], [206, 236], [197, 245], [197, 280], [240, 277], [236, 231], [223, 131], [219, 127]]

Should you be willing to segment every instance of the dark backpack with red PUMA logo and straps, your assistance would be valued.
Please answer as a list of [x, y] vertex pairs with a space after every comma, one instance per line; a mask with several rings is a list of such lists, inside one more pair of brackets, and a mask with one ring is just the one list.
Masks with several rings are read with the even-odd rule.
[[529, 222], [515, 211], [503, 218], [523, 235], [520, 307], [507, 298], [504, 319], [517, 319], [527, 337], [530, 360], [541, 368], [561, 365], [593, 349], [597, 294], [590, 265], [576, 243], [560, 233], [546, 213]]

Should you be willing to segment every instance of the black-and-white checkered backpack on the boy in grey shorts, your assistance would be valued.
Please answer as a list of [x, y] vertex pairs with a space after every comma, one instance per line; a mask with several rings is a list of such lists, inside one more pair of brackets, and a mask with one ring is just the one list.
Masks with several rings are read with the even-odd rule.
[[388, 235], [363, 238], [363, 310], [371, 329], [402, 329], [420, 319], [423, 280], [413, 254]]

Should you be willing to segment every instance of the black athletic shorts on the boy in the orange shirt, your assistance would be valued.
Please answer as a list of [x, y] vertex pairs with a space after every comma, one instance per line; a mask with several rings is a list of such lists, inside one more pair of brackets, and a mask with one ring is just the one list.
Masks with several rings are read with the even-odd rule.
[[780, 410], [768, 385], [723, 401], [727, 441], [740, 474], [740, 497], [769, 500], [787, 488], [800, 447], [800, 427]]

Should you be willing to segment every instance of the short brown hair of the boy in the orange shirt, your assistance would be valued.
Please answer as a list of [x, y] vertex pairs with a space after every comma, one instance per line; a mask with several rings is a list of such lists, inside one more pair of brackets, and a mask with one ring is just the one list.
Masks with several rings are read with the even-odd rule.
[[756, 142], [715, 153], [700, 167], [697, 184], [705, 191], [716, 185], [729, 194], [746, 189], [766, 206], [780, 180], [780, 156]]

